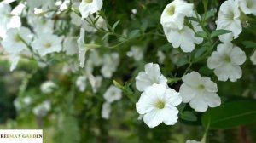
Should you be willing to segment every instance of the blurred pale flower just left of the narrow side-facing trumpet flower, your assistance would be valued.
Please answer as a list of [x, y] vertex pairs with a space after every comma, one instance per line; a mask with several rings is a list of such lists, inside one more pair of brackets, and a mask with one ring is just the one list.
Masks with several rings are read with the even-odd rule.
[[67, 36], [63, 41], [63, 50], [67, 55], [78, 54], [78, 43], [76, 37]]

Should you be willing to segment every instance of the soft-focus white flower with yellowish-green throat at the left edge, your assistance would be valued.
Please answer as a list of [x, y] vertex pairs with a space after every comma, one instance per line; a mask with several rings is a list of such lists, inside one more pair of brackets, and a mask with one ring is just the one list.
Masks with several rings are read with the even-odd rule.
[[31, 31], [26, 27], [11, 28], [6, 32], [2, 45], [9, 54], [20, 54], [27, 49], [26, 43], [31, 42], [31, 37]]

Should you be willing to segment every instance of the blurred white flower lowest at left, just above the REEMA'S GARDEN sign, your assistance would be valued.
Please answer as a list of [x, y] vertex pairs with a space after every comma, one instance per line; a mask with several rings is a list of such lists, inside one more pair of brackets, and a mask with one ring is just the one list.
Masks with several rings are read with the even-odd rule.
[[32, 112], [38, 117], [44, 117], [49, 112], [51, 106], [49, 101], [44, 101], [43, 103], [35, 106]]

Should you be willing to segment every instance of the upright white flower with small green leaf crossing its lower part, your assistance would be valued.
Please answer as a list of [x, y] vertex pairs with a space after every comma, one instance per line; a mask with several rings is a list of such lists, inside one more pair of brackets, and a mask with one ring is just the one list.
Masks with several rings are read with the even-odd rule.
[[238, 4], [234, 0], [227, 0], [221, 4], [218, 12], [218, 20], [216, 21], [217, 30], [224, 29], [232, 31], [230, 33], [219, 36], [219, 40], [223, 43], [236, 39], [241, 33], [240, 10]]

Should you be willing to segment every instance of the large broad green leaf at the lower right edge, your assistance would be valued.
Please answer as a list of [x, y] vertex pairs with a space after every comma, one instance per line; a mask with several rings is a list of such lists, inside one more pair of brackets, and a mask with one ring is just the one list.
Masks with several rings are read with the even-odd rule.
[[247, 123], [256, 123], [256, 101], [238, 100], [208, 109], [201, 117], [202, 124], [210, 129], [230, 129]]

